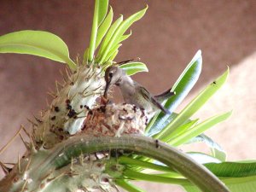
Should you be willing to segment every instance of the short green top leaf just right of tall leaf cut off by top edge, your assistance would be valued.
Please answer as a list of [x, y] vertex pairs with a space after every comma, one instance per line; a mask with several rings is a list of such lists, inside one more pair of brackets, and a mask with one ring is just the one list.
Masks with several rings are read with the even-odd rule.
[[95, 49], [97, 49], [99, 44], [101, 44], [102, 38], [104, 38], [104, 36], [108, 32], [108, 28], [111, 26], [112, 20], [113, 20], [113, 9], [110, 7], [108, 16], [106, 17], [105, 20], [103, 20], [102, 25], [98, 29]]

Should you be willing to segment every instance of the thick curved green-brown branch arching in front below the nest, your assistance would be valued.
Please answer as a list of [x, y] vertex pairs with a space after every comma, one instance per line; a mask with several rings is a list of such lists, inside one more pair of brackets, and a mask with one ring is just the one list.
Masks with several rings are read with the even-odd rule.
[[[131, 150], [137, 152], [137, 154], [143, 154], [159, 160], [166, 166], [172, 166], [173, 169], [183, 174], [184, 177], [187, 177], [204, 192], [230, 191], [224, 186], [224, 183], [218, 180], [218, 177], [208, 171], [206, 167], [197, 164], [195, 160], [192, 160], [186, 154], [166, 143], [156, 143], [150, 137], [139, 135], [122, 137], [84, 137], [80, 135], [71, 137], [67, 141], [57, 144], [55, 148], [47, 151], [38, 151], [38, 153], [33, 154], [33, 158], [36, 159], [34, 160], [36, 165], [31, 167], [30, 176], [34, 178], [33, 182], [37, 185], [40, 184], [40, 179], [35, 177], [38, 172], [42, 176], [49, 170], [67, 166], [72, 158], [79, 157], [81, 153], [90, 154], [112, 149]], [[41, 155], [41, 158], [37, 158], [38, 155]], [[10, 176], [7, 176], [6, 179], [8, 177]], [[36, 181], [37, 178], [38, 181]], [[11, 184], [7, 187], [5, 183], [7, 181], [4, 180], [0, 181], [0, 191], [2, 189], [9, 191]]]

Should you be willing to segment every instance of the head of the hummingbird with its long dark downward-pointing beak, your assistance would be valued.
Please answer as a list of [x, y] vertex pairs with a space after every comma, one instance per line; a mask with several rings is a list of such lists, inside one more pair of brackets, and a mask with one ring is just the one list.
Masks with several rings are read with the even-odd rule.
[[108, 88], [111, 84], [119, 85], [122, 77], [125, 75], [125, 71], [119, 67], [108, 67], [105, 71], [106, 88], [104, 91], [104, 97], [107, 98]]

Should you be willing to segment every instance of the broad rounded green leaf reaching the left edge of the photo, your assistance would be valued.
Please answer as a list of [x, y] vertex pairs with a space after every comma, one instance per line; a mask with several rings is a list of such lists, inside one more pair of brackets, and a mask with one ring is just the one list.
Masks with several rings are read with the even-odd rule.
[[38, 55], [76, 68], [69, 58], [67, 44], [50, 32], [25, 30], [3, 35], [0, 37], [0, 53]]

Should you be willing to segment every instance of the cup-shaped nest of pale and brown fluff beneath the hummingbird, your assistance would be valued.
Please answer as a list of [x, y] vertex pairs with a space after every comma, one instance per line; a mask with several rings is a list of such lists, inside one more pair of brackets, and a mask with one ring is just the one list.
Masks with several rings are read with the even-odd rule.
[[83, 134], [95, 137], [120, 137], [143, 134], [148, 124], [145, 110], [131, 104], [108, 104], [92, 109], [84, 121]]

